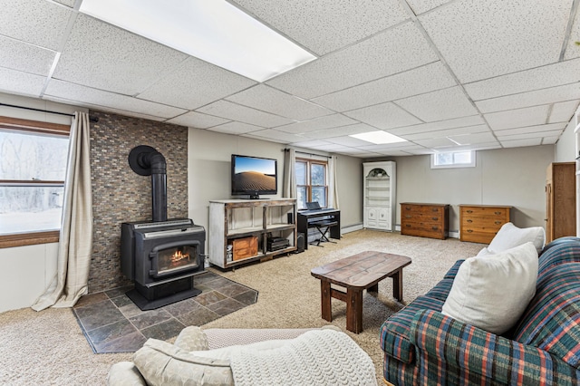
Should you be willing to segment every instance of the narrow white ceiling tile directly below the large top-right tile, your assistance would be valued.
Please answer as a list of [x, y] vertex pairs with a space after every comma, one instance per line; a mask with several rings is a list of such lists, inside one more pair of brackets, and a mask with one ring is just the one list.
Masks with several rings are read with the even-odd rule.
[[509, 73], [465, 85], [474, 101], [580, 82], [580, 59]]

